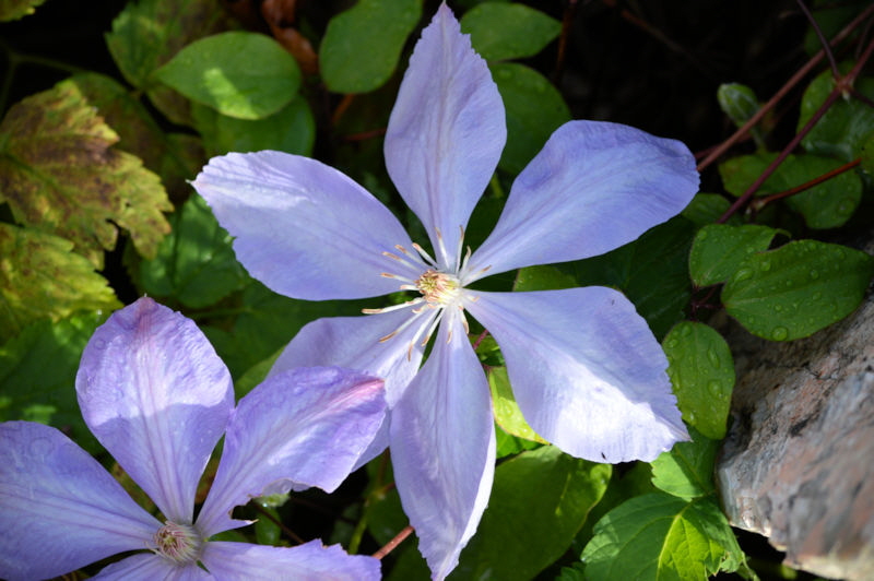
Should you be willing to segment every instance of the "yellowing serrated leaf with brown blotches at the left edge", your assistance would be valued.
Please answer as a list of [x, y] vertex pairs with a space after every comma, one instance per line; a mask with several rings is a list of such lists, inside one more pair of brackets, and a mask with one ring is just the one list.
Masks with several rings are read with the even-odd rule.
[[118, 228], [154, 256], [173, 209], [160, 178], [131, 154], [75, 84], [64, 81], [10, 108], [0, 123], [0, 197], [20, 223], [52, 233], [102, 266]]

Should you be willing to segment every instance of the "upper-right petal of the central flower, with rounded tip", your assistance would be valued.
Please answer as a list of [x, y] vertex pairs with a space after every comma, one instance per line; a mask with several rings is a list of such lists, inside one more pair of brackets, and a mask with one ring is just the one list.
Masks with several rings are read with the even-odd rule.
[[616, 123], [570, 121], [516, 178], [469, 272], [601, 254], [674, 216], [697, 191], [695, 158], [683, 143]]

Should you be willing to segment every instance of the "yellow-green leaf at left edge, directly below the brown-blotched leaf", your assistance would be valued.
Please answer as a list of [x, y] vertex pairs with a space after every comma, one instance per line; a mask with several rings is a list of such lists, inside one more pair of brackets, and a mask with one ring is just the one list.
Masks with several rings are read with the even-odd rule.
[[39, 319], [121, 306], [106, 278], [72, 248], [63, 238], [0, 223], [0, 336]]

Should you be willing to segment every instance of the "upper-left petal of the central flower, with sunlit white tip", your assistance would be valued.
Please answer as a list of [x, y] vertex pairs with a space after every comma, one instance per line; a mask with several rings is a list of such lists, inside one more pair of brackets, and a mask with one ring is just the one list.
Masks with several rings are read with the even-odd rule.
[[388, 272], [420, 270], [392, 260], [412, 242], [389, 210], [321, 162], [282, 152], [213, 157], [192, 186], [236, 237], [237, 259], [271, 289], [308, 300], [398, 290]]

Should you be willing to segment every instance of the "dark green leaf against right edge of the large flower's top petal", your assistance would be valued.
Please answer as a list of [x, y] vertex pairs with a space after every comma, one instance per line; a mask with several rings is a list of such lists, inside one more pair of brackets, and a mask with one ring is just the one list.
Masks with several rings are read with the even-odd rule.
[[507, 111], [507, 146], [499, 167], [518, 174], [540, 152], [553, 131], [570, 120], [558, 90], [533, 69], [515, 62], [488, 67]]

